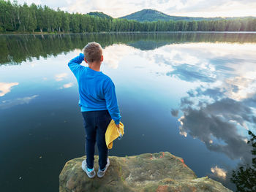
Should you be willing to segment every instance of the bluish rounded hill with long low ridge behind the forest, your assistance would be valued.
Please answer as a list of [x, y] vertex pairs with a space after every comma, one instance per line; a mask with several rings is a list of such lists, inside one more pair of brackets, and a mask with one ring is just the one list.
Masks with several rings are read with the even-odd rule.
[[[181, 17], [181, 16], [170, 16], [166, 15], [163, 12], [159, 12], [154, 9], [142, 9], [141, 11], [134, 12], [130, 15], [126, 15], [121, 17], [121, 19], [127, 20], [138, 20], [140, 22], [143, 21], [157, 21], [157, 20], [221, 20], [223, 18], [193, 18], [193, 17]], [[233, 18], [226, 18], [233, 19]]]

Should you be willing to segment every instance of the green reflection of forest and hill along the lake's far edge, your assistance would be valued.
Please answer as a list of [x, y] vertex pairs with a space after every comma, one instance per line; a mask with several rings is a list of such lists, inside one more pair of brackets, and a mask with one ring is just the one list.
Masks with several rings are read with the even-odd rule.
[[58, 34], [0, 35], [0, 64], [20, 64], [32, 58], [48, 58], [70, 50], [81, 49], [87, 42], [102, 47], [123, 43], [140, 50], [154, 50], [185, 42], [256, 42], [255, 34], [170, 33], [170, 34]]

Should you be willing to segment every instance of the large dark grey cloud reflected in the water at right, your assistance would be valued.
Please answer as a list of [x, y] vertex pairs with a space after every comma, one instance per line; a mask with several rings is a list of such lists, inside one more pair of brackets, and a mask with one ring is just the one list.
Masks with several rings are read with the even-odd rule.
[[181, 133], [200, 139], [209, 150], [225, 153], [232, 159], [251, 159], [251, 149], [241, 134], [246, 122], [255, 123], [254, 113], [249, 107], [232, 99], [221, 99], [212, 104], [201, 101], [197, 109], [182, 100], [181, 106], [184, 113], [179, 118]]

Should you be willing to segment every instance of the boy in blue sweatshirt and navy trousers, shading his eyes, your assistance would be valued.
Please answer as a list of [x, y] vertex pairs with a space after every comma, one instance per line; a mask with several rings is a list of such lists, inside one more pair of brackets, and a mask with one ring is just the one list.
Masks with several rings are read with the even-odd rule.
[[[89, 64], [81, 66], [82, 61]], [[105, 132], [111, 119], [119, 127], [121, 115], [118, 109], [115, 85], [110, 77], [99, 71], [103, 61], [102, 47], [97, 42], [90, 42], [83, 48], [83, 53], [69, 61], [69, 69], [78, 80], [79, 106], [86, 129], [86, 160], [82, 169], [89, 178], [95, 177], [94, 146], [97, 142], [99, 151], [99, 178], [105, 175], [110, 165]]]

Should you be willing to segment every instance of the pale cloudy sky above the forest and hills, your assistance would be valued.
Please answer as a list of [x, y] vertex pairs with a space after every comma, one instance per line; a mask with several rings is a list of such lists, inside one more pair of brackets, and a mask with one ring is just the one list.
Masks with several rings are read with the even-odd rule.
[[[12, 0], [13, 1], [13, 0]], [[18, 4], [35, 3], [67, 12], [104, 12], [113, 18], [141, 9], [157, 9], [167, 15], [190, 17], [256, 16], [255, 0], [18, 0]]]

